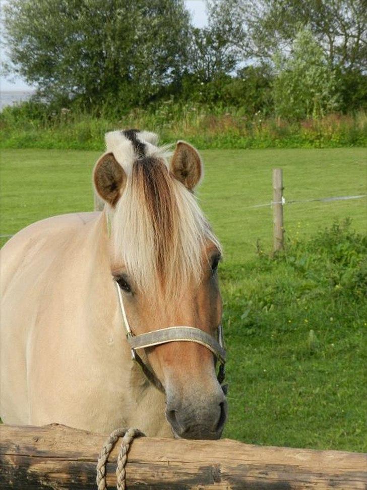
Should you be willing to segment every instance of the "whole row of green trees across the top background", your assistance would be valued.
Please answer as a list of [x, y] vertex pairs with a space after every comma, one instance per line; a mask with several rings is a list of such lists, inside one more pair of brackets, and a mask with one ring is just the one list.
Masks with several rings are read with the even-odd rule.
[[9, 0], [3, 12], [6, 71], [59, 104], [117, 114], [172, 97], [289, 118], [366, 105], [365, 0], [209, 0], [201, 29], [184, 0]]

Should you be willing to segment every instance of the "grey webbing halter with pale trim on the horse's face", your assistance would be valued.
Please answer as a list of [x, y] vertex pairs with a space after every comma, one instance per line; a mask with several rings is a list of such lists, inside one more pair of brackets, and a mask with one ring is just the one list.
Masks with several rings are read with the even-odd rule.
[[[142, 333], [141, 335], [134, 335], [131, 331], [128, 317], [126, 316], [123, 295], [121, 295], [120, 287], [117, 282], [115, 282], [115, 285], [121, 313], [123, 314], [126, 338], [131, 348], [131, 357], [133, 361], [136, 361], [140, 365], [147, 379], [154, 384], [156, 388], [164, 393], [162, 383], [159, 381], [155, 373], [144, 363], [136, 351], [137, 349], [145, 349], [147, 347], [167, 344], [167, 342], [196, 342], [196, 344], [200, 344], [209, 349], [209, 351], [214, 354], [216, 360], [219, 360], [220, 362], [217, 380], [219, 384], [222, 385], [225, 377], [226, 352], [224, 349], [223, 328], [221, 324], [218, 326], [218, 341], [209, 335], [209, 333], [200, 330], [200, 328], [186, 326], [160, 328], [159, 330]], [[222, 386], [222, 389], [226, 394], [227, 385]]]

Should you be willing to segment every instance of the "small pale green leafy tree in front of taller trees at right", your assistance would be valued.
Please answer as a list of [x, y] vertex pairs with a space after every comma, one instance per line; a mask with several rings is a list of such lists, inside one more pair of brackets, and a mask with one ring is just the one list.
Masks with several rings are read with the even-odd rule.
[[336, 110], [335, 72], [309, 29], [301, 29], [291, 54], [274, 57], [276, 114], [287, 119], [321, 117]]

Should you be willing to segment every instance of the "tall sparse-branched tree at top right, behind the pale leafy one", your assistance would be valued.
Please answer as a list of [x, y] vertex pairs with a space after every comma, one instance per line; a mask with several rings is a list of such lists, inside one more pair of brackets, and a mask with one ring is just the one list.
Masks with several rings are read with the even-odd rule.
[[309, 27], [332, 67], [366, 67], [365, 0], [231, 0], [209, 3], [212, 28], [242, 59], [271, 60], [289, 52], [299, 26]]

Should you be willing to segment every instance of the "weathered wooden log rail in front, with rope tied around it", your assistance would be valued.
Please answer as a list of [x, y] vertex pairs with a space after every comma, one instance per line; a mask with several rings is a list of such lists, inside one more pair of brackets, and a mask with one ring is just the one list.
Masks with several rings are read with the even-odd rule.
[[[96, 462], [105, 435], [52, 424], [2, 425], [1, 488], [95, 488]], [[115, 488], [116, 443], [107, 465]], [[262, 447], [230, 439], [135, 439], [128, 455], [127, 487], [151, 490], [365, 489], [364, 454]]]

